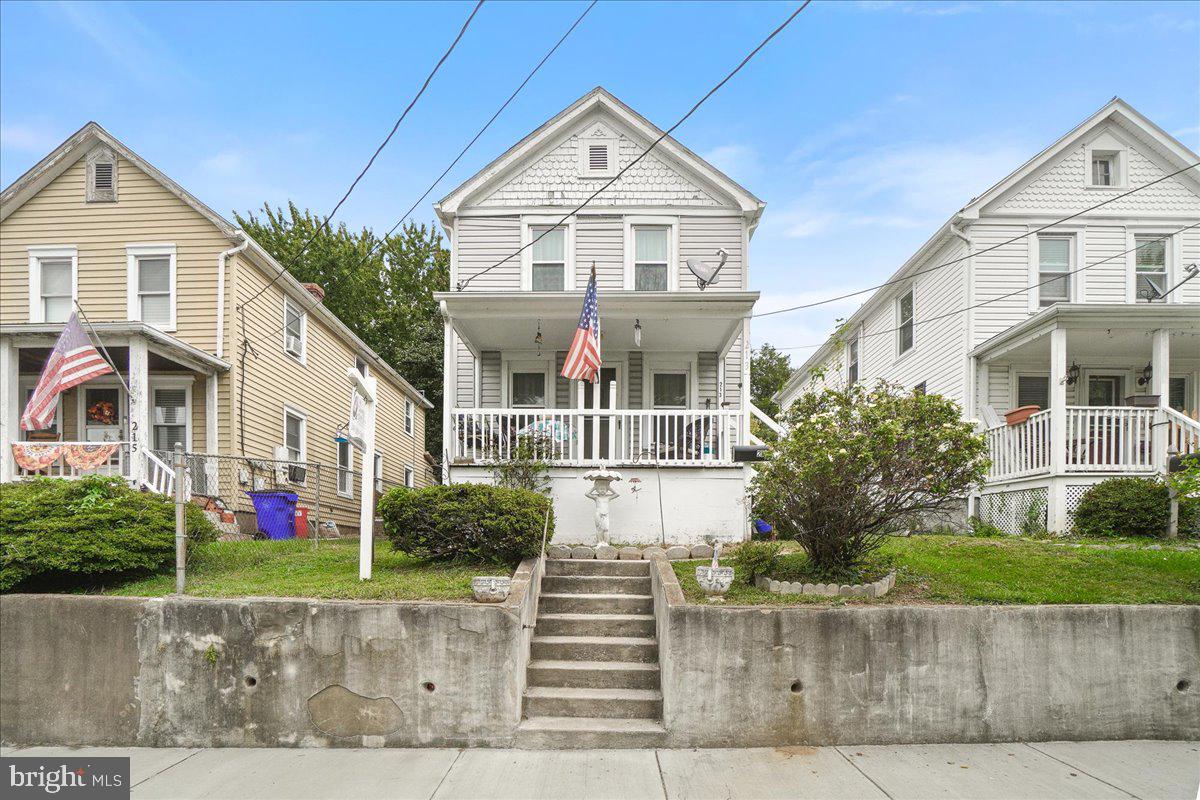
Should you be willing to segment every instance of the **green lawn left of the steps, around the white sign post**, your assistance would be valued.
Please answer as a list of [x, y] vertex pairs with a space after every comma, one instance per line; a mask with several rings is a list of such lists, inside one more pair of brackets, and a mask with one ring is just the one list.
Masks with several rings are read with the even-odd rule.
[[[188, 559], [187, 594], [199, 597], [329, 597], [340, 600], [470, 600], [476, 575], [509, 575], [502, 566], [430, 564], [376, 542], [371, 581], [359, 581], [359, 541], [215, 542]], [[175, 590], [160, 575], [104, 587], [106, 595], [158, 597]]]

